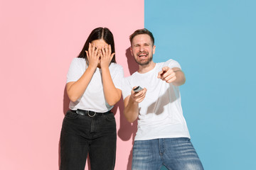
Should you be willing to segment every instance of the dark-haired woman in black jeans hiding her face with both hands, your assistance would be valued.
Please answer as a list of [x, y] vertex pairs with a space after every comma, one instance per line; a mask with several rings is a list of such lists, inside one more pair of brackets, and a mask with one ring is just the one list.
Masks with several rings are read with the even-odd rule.
[[60, 135], [61, 170], [84, 170], [87, 153], [92, 170], [114, 169], [117, 130], [110, 110], [121, 98], [123, 77], [112, 33], [95, 28], [68, 70], [70, 110]]

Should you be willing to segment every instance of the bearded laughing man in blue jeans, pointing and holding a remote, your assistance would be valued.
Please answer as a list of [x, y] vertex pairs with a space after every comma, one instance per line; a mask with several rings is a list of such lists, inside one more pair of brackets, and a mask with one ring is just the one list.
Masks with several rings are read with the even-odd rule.
[[[130, 123], [138, 118], [132, 169], [203, 169], [182, 113], [181, 66], [174, 60], [153, 62], [156, 46], [149, 30], [136, 30], [130, 42], [139, 70], [124, 80], [122, 93], [125, 117]], [[144, 89], [136, 92], [137, 86]]]

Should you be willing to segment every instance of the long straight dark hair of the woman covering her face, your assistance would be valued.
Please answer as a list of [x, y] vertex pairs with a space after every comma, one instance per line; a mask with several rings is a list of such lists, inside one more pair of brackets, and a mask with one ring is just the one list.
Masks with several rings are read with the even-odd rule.
[[[84, 58], [86, 60], [86, 63], [88, 64], [88, 57], [86, 55], [85, 51], [88, 51], [89, 48], [89, 43], [92, 42], [93, 40], [105, 40], [105, 42], [108, 45], [111, 45], [111, 52], [114, 52], [114, 36], [111, 33], [111, 31], [108, 28], [95, 28], [92, 30], [92, 33], [90, 33], [89, 37], [87, 38], [85, 45], [82, 47], [82, 51], [78, 55], [78, 58]], [[111, 62], [116, 62], [115, 61], [115, 55], [112, 58]]]

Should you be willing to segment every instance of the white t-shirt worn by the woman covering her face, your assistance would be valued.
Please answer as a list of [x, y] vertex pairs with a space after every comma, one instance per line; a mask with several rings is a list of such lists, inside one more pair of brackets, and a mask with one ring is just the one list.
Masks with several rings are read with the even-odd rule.
[[[67, 83], [70, 81], [78, 81], [82, 74], [84, 74], [86, 68], [87, 64], [85, 59], [74, 58], [68, 70]], [[122, 66], [112, 62], [109, 68], [114, 86], [117, 89], [122, 89], [122, 80], [124, 78], [124, 70]], [[85, 93], [78, 99], [78, 101], [70, 101], [69, 108], [71, 110], [77, 110], [79, 108], [82, 110], [102, 113], [110, 111], [113, 108], [113, 106], [110, 106], [107, 101], [105, 101], [101, 72], [102, 70], [97, 68]]]

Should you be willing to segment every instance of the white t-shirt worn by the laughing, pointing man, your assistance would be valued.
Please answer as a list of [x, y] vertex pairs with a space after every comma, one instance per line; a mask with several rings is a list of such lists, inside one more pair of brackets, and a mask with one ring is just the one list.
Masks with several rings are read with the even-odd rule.
[[144, 74], [135, 72], [124, 79], [123, 98], [131, 94], [134, 86], [146, 87], [146, 97], [139, 103], [138, 130], [135, 140], [153, 140], [170, 137], [190, 138], [181, 108], [178, 86], [157, 78], [165, 66], [181, 68], [174, 60], [156, 63], [154, 69]]

